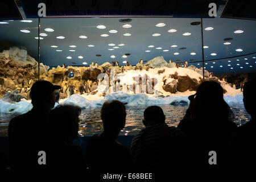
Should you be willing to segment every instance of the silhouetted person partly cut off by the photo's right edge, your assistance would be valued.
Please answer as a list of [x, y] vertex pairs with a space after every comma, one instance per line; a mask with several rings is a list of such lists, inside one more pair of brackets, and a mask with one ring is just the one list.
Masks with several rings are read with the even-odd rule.
[[243, 104], [247, 113], [251, 115], [251, 120], [241, 127], [237, 132], [237, 154], [233, 158], [236, 169], [249, 169], [255, 165], [255, 141], [256, 141], [256, 80], [251, 80], [243, 86]]

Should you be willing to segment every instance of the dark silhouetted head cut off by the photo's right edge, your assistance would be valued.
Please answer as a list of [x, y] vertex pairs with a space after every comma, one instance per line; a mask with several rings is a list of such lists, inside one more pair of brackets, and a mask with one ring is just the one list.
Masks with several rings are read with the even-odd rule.
[[251, 115], [252, 118], [255, 118], [256, 113], [256, 80], [250, 80], [245, 83], [243, 86], [243, 104], [245, 105], [246, 111]]

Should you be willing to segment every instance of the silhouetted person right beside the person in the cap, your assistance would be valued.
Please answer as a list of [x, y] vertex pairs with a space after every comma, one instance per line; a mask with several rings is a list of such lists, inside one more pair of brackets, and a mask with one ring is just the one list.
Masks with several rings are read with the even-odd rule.
[[85, 172], [84, 155], [80, 147], [73, 145], [78, 138], [80, 107], [58, 105], [50, 113], [49, 166], [51, 171]]

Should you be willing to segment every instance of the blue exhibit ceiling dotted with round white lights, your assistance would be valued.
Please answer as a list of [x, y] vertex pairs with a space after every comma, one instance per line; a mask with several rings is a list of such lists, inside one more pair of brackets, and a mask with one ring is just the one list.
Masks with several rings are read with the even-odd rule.
[[[40, 40], [40, 59], [51, 67], [57, 65], [82, 65], [83, 62], [88, 64], [91, 61], [97, 61], [103, 64], [105, 61], [122, 61], [127, 60], [132, 65], [138, 63], [140, 59], [151, 60], [156, 56], [163, 56], [166, 61], [181, 60], [190, 62], [189, 65], [195, 65], [197, 68], [202, 67], [201, 63], [201, 29], [200, 25], [192, 26], [191, 22], [200, 22], [199, 18], [131, 18], [130, 28], [123, 28], [119, 22], [120, 18], [46, 18], [41, 19], [41, 32], [48, 34], [42, 36]], [[0, 24], [0, 43], [9, 42], [11, 44], [22, 45], [27, 48], [28, 53], [37, 60], [38, 56], [38, 19], [31, 19], [33, 22], [26, 23], [20, 20]], [[165, 23], [164, 27], [156, 27], [158, 23]], [[106, 28], [99, 29], [96, 26], [104, 25]], [[213, 30], [204, 30], [204, 49], [205, 69], [214, 73], [228, 72], [253, 72], [256, 71], [256, 22], [254, 20], [240, 19], [203, 19], [203, 28], [213, 27]], [[53, 28], [53, 32], [47, 32], [45, 28]], [[168, 32], [170, 29], [176, 32]], [[20, 30], [29, 30], [30, 33], [20, 32]], [[117, 30], [111, 34], [109, 30]], [[242, 30], [241, 34], [234, 34], [234, 31]], [[184, 36], [185, 32], [191, 35]], [[130, 33], [131, 36], [123, 36]], [[161, 34], [152, 36], [152, 34]], [[102, 37], [101, 34], [108, 34], [108, 37]], [[88, 38], [81, 39], [80, 35], [86, 35]], [[56, 39], [57, 36], [64, 36], [65, 39]], [[230, 41], [224, 41], [225, 38], [233, 38]], [[230, 42], [224, 45], [224, 42]], [[109, 51], [113, 43], [125, 44], [119, 48]], [[94, 47], [88, 47], [88, 45]], [[69, 46], [75, 45], [75, 48]], [[148, 46], [153, 45], [153, 48]], [[177, 45], [177, 47], [171, 47]], [[58, 46], [52, 48], [51, 46]], [[2, 46], [3, 47], [3, 46]], [[162, 47], [162, 49], [156, 49]], [[179, 49], [185, 47], [185, 49]], [[6, 47], [7, 48], [7, 47]], [[242, 49], [237, 52], [236, 49]], [[70, 49], [75, 52], [69, 51]], [[57, 52], [56, 50], [62, 50]], [[149, 50], [150, 52], [145, 52]], [[164, 52], [163, 50], [168, 50]], [[174, 55], [178, 52], [179, 55]], [[196, 55], [191, 55], [195, 52]], [[127, 58], [122, 56], [126, 53], [131, 55]], [[216, 56], [210, 55], [216, 53]], [[102, 55], [97, 57], [96, 55]], [[114, 55], [115, 58], [110, 56]], [[246, 56], [243, 56], [246, 55]], [[71, 56], [72, 59], [67, 59]], [[78, 56], [83, 56], [79, 59]], [[226, 57], [233, 57], [225, 59]], [[192, 59], [192, 60], [191, 60]], [[245, 60], [247, 59], [247, 60]], [[212, 61], [207, 61], [212, 60]], [[239, 61], [237, 61], [239, 60]], [[196, 62], [196, 63], [195, 63]], [[72, 64], [76, 63], [76, 64]], [[198, 65], [199, 64], [199, 65]], [[237, 65], [239, 64], [239, 65]], [[222, 66], [222, 67], [221, 67]], [[233, 69], [231, 69], [233, 68]]]

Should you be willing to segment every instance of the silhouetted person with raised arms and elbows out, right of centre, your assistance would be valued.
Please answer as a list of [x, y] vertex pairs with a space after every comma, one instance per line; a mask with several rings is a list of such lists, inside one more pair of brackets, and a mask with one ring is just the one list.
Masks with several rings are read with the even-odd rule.
[[[229, 120], [231, 111], [224, 101], [223, 89], [217, 82], [205, 81], [189, 100], [187, 113], [178, 127], [192, 141], [195, 167], [221, 169], [226, 166], [226, 154], [236, 131], [236, 123]], [[209, 164], [209, 158], [213, 156], [210, 151], [216, 152], [217, 164]]]

